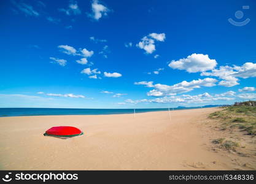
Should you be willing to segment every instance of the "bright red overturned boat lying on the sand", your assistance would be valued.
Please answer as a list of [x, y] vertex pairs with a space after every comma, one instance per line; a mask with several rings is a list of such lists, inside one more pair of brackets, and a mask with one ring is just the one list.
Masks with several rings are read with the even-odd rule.
[[54, 126], [48, 129], [45, 133], [55, 136], [71, 136], [81, 134], [82, 131], [74, 126]]

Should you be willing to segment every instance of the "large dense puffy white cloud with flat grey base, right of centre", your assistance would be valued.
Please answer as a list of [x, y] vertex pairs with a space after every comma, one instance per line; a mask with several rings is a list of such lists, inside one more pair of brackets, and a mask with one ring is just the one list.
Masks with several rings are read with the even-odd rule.
[[173, 69], [185, 70], [189, 73], [204, 72], [214, 69], [217, 65], [215, 59], [210, 59], [208, 55], [196, 54], [187, 56], [177, 61], [171, 61], [169, 67]]

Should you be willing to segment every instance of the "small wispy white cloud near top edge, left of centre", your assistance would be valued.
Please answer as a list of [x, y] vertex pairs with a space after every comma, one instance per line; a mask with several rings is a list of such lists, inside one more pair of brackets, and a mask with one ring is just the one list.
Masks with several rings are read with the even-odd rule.
[[107, 16], [107, 12], [109, 12], [109, 9], [103, 4], [99, 4], [99, 1], [97, 0], [94, 0], [91, 4], [91, 10], [93, 13], [89, 16], [95, 20], [99, 20], [99, 18]]

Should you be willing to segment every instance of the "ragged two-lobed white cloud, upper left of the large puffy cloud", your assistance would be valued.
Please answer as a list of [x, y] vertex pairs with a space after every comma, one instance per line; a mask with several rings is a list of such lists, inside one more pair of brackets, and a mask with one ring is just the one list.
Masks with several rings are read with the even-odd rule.
[[[151, 38], [149, 38], [151, 37]], [[146, 53], [153, 53], [155, 51], [155, 40], [163, 42], [165, 40], [165, 33], [157, 34], [157, 33], [150, 33], [148, 36], [144, 36], [141, 39], [141, 42], [136, 46], [144, 49]]]

